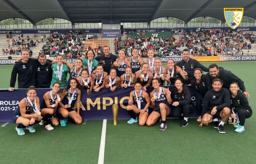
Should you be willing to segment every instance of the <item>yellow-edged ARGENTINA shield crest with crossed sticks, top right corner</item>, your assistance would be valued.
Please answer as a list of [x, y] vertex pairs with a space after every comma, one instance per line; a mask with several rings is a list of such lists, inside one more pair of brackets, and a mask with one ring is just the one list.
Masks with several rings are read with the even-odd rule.
[[244, 8], [224, 8], [225, 20], [229, 27], [235, 29], [242, 22]]

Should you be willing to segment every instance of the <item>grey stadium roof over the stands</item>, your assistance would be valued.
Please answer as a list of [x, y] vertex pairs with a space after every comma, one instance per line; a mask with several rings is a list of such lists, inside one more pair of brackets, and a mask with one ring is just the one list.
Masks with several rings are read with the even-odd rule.
[[0, 20], [23, 18], [31, 23], [46, 18], [63, 18], [72, 23], [150, 22], [160, 17], [175, 17], [186, 23], [200, 16], [225, 21], [223, 8], [244, 8], [244, 16], [256, 19], [255, 0], [2, 0]]

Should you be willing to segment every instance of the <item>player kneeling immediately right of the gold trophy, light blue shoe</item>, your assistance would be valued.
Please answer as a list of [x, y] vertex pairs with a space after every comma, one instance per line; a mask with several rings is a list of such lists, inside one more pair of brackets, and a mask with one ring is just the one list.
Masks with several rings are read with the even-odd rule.
[[133, 91], [130, 92], [128, 106], [126, 107], [127, 113], [132, 117], [127, 123], [132, 124], [138, 122], [134, 113], [139, 114], [139, 125], [145, 125], [149, 115], [150, 98], [147, 92], [142, 91], [142, 82], [137, 78]]

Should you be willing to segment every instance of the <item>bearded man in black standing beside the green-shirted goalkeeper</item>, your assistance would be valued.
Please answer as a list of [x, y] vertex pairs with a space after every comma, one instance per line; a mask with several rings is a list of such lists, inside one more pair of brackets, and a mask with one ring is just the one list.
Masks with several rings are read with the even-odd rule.
[[50, 88], [52, 81], [52, 62], [47, 61], [45, 54], [38, 56], [38, 65], [36, 73], [36, 87]]

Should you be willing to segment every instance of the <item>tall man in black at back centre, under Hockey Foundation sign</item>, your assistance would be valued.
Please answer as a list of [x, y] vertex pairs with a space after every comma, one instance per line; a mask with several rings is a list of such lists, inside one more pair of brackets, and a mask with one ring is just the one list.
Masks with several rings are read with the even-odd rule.
[[118, 58], [116, 55], [110, 54], [110, 48], [109, 46], [103, 46], [103, 55], [95, 57], [97, 61], [103, 60], [104, 61], [104, 71], [109, 74], [111, 65], [116, 61]]

